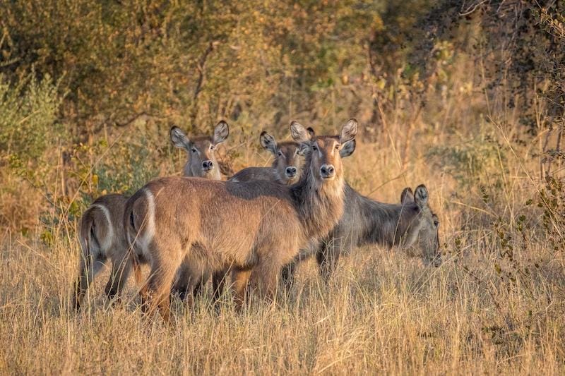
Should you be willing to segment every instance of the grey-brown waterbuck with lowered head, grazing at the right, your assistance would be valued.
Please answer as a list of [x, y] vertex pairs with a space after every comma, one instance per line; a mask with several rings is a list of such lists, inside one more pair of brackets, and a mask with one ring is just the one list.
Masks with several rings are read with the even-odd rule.
[[327, 281], [342, 253], [368, 244], [398, 245], [409, 255], [422, 257], [424, 264], [438, 267], [441, 265], [439, 220], [428, 199], [424, 185], [417, 186], [415, 194], [404, 188], [400, 204], [386, 204], [360, 195], [345, 183], [343, 217], [318, 247], [303, 251], [283, 269], [285, 284], [292, 284], [297, 262], [311, 253], [316, 254], [321, 275]]

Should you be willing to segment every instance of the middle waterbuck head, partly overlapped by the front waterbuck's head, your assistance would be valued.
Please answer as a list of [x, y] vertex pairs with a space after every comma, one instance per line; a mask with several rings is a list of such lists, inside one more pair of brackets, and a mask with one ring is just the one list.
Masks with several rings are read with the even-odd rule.
[[279, 183], [290, 186], [296, 183], [304, 166], [304, 150], [298, 142], [285, 141], [277, 143], [273, 135], [261, 132], [261, 146], [273, 153], [273, 171]]

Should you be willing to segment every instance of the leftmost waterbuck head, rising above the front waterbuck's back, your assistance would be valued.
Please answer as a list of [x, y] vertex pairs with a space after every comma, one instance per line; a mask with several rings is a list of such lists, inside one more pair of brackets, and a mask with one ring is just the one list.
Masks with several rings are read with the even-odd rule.
[[215, 157], [215, 150], [230, 134], [230, 128], [225, 121], [218, 123], [212, 137], [201, 136], [189, 140], [181, 128], [177, 126], [171, 128], [170, 134], [172, 144], [186, 150], [189, 154], [184, 165], [184, 176], [220, 180], [220, 169]]

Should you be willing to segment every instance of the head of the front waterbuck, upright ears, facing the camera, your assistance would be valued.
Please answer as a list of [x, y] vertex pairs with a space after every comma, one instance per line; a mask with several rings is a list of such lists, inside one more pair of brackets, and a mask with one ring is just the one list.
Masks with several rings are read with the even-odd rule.
[[341, 159], [355, 151], [357, 120], [347, 121], [335, 136], [316, 136], [311, 128], [306, 129], [296, 121], [291, 123], [290, 133], [308, 153], [310, 174], [318, 186], [330, 186], [334, 181], [343, 183]]

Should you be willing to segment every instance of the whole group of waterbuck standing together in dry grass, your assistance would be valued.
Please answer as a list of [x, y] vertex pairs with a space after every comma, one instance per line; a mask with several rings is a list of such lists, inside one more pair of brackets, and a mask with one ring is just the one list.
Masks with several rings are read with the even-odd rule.
[[[201, 296], [210, 278], [216, 303], [230, 281], [241, 308], [249, 291], [272, 299], [280, 283], [290, 288], [297, 265], [311, 255], [327, 281], [340, 255], [360, 245], [398, 246], [439, 266], [439, 222], [425, 186], [405, 188], [398, 204], [385, 204], [345, 182], [342, 159], [355, 152], [357, 128], [350, 119], [338, 135], [317, 135], [293, 121], [293, 141], [285, 142], [263, 132], [273, 165], [222, 181], [215, 150], [229, 135], [227, 123], [198, 138], [173, 127], [173, 145], [188, 153], [184, 176], [157, 178], [130, 198], [104, 195], [84, 212], [73, 308], [107, 260], [108, 298], [119, 299], [133, 271], [143, 312], [157, 310], [165, 321], [173, 293]], [[142, 264], [150, 267], [145, 281]]]

